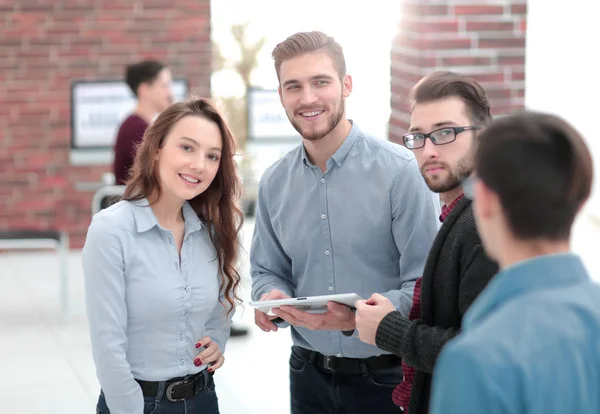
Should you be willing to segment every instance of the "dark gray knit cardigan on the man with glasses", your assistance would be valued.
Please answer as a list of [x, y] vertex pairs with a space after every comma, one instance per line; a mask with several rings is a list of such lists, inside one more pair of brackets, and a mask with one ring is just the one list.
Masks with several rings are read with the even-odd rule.
[[431, 373], [444, 344], [456, 336], [477, 295], [497, 273], [481, 244], [471, 201], [463, 198], [444, 220], [427, 257], [421, 281], [421, 318], [388, 314], [375, 338], [379, 348], [416, 368], [409, 414], [427, 413]]

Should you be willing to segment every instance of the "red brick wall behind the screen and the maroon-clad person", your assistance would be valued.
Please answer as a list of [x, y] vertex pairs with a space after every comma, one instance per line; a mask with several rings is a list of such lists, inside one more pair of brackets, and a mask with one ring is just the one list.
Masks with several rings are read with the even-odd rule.
[[210, 0], [18, 0], [0, 3], [0, 229], [58, 228], [82, 246], [103, 166], [69, 165], [70, 84], [122, 79], [164, 60], [210, 94]]

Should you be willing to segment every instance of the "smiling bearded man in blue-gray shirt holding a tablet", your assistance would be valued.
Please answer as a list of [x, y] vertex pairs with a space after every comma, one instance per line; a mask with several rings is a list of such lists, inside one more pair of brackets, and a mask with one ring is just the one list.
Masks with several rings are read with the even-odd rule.
[[[352, 78], [333, 38], [296, 33], [272, 55], [281, 103], [302, 142], [260, 181], [253, 299], [382, 292], [408, 316], [439, 200], [409, 150], [346, 118]], [[292, 326], [292, 414], [398, 412], [390, 395], [402, 380], [400, 358], [360, 341], [350, 307], [274, 313], [279, 320], [256, 310], [255, 321], [267, 332]]]

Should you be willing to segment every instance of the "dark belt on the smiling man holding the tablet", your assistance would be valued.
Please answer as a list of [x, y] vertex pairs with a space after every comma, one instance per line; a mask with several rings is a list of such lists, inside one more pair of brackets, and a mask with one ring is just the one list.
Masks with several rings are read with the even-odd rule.
[[308, 349], [302, 349], [300, 354], [318, 368], [346, 375], [369, 375], [381, 369], [394, 368], [402, 364], [402, 359], [398, 356], [388, 354], [369, 358], [343, 358], [323, 355]]

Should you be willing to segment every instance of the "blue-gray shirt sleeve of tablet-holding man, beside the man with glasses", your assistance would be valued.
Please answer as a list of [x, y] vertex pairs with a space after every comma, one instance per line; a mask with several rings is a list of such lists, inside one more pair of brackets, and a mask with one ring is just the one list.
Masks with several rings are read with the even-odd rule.
[[383, 295], [404, 317], [408, 317], [415, 282], [423, 274], [438, 231], [435, 200], [415, 159], [409, 160], [394, 177], [391, 201], [392, 233], [400, 252], [401, 288]]

